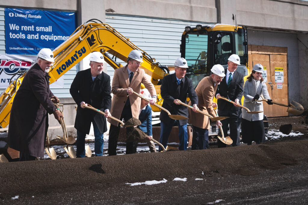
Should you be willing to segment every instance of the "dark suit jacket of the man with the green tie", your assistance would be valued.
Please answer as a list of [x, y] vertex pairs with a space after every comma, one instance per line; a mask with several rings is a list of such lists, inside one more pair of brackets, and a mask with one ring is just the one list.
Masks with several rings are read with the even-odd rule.
[[[225, 69], [225, 74], [227, 74], [227, 69]], [[227, 77], [227, 76], [226, 76]], [[218, 85], [215, 96], [219, 93], [221, 96], [234, 101], [235, 99], [240, 100], [243, 96], [243, 86], [244, 86], [244, 75], [235, 71], [230, 86], [227, 86], [225, 79], [221, 81]], [[229, 103], [223, 99], [217, 100], [219, 110], [240, 110], [241, 107], [236, 107], [232, 103]]]

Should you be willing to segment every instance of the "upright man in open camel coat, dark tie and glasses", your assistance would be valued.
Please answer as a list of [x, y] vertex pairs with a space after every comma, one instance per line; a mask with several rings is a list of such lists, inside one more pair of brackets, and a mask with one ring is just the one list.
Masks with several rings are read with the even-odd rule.
[[[157, 95], [155, 87], [151, 82], [151, 78], [144, 72], [144, 69], [140, 68], [143, 63], [143, 56], [139, 50], [132, 50], [128, 54], [127, 65], [115, 70], [111, 91], [113, 93], [111, 103], [111, 115], [117, 119], [125, 120], [127, 122], [130, 118], [139, 118], [139, 111], [141, 105], [141, 98], [136, 95], [132, 95], [133, 91], [140, 93], [141, 83], [148, 89], [151, 95], [150, 104], [156, 103]], [[116, 155], [116, 147], [118, 143], [118, 137], [120, 133], [120, 124], [112, 119], [108, 119], [110, 122], [109, 141], [108, 141], [108, 154]], [[126, 133], [132, 131], [131, 128], [126, 128]], [[126, 154], [136, 153], [137, 143], [126, 143]]]

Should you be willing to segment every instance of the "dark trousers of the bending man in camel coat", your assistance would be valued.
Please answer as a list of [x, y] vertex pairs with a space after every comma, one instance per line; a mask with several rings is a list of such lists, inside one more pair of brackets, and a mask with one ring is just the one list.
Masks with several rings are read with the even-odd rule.
[[209, 130], [193, 126], [192, 150], [209, 149]]

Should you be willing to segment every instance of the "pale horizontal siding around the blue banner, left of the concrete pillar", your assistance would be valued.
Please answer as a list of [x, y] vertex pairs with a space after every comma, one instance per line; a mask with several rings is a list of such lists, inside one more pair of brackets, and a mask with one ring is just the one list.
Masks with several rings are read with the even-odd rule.
[[[5, 16], [4, 8], [0, 7], [0, 54], [6, 54], [5, 51]], [[70, 87], [76, 73], [79, 71], [79, 64], [71, 68], [67, 73], [63, 75], [64, 77], [64, 87], [63, 88], [53, 88], [51, 91], [59, 98], [71, 98]], [[0, 89], [0, 92], [5, 89]]]

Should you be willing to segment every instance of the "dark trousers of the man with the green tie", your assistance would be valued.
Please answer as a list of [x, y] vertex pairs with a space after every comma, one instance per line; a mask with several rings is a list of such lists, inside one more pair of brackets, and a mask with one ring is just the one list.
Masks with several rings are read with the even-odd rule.
[[[230, 138], [233, 140], [231, 144], [234, 146], [240, 146], [240, 130], [241, 130], [241, 118], [242, 110], [219, 110], [218, 115], [221, 117], [229, 117], [227, 119], [221, 120], [222, 130], [224, 136], [228, 136], [228, 125], [230, 128]], [[218, 136], [221, 136], [220, 130], [218, 131]], [[220, 140], [217, 140], [218, 148], [226, 147], [227, 145]]]

